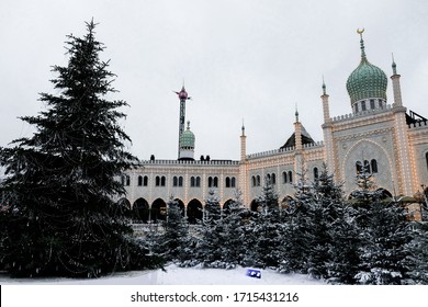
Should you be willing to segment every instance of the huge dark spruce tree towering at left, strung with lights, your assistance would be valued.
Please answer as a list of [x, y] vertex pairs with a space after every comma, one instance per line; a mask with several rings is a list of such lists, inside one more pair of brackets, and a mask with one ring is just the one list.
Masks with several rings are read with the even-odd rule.
[[68, 36], [68, 65], [54, 66], [55, 93], [46, 105], [22, 120], [36, 132], [1, 148], [7, 169], [1, 193], [0, 261], [13, 276], [94, 277], [115, 270], [158, 266], [159, 260], [133, 240], [113, 198], [125, 190], [115, 180], [139, 163], [125, 150], [128, 136], [119, 121], [124, 101], [109, 101], [115, 77], [104, 49], [87, 23], [83, 37]]

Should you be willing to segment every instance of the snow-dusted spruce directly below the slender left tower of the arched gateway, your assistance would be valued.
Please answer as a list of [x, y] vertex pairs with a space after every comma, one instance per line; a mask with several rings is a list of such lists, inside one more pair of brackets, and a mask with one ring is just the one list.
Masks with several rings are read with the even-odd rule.
[[354, 284], [360, 245], [353, 208], [346, 204], [341, 184], [335, 182], [325, 163], [312, 190], [308, 272], [330, 283]]

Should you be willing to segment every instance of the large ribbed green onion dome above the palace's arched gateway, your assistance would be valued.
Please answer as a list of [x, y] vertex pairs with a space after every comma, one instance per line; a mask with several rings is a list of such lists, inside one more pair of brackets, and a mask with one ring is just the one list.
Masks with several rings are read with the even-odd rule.
[[361, 38], [361, 62], [351, 72], [347, 81], [347, 90], [351, 104], [370, 98], [386, 100], [387, 78], [379, 67], [369, 62], [364, 53], [364, 42]]

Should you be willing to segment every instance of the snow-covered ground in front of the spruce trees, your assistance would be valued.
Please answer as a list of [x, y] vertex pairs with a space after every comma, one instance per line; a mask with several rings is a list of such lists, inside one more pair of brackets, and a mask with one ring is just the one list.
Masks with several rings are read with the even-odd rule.
[[273, 270], [260, 270], [261, 278], [247, 276], [246, 268], [234, 270], [178, 268], [116, 273], [97, 280], [71, 278], [10, 278], [0, 275], [0, 284], [55, 284], [55, 285], [325, 285], [303, 274], [280, 274]]

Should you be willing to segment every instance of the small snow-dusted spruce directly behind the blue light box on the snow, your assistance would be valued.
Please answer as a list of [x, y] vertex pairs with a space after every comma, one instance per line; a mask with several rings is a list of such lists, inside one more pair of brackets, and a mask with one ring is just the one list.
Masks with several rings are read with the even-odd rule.
[[245, 263], [256, 268], [277, 268], [281, 261], [282, 223], [278, 194], [269, 178], [264, 178], [257, 203], [260, 209], [248, 224], [247, 242], [250, 246], [247, 247]]

